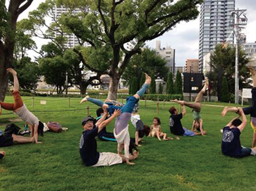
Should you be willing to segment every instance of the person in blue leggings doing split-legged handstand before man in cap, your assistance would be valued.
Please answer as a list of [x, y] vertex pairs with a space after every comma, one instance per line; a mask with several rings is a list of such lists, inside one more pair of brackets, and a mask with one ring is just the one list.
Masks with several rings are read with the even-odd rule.
[[82, 102], [92, 102], [102, 108], [105, 108], [108, 110], [109, 114], [112, 115], [115, 109], [120, 109], [122, 111], [122, 114], [116, 118], [115, 121], [115, 129], [114, 129], [114, 135], [115, 139], [118, 142], [118, 153], [121, 154], [122, 150], [125, 150], [125, 157], [126, 162], [130, 165], [134, 165], [135, 163], [129, 162], [129, 144], [130, 144], [130, 135], [128, 131], [128, 122], [131, 119], [131, 113], [133, 111], [133, 108], [135, 107], [135, 104], [138, 103], [140, 97], [143, 96], [143, 94], [148, 89], [150, 83], [151, 83], [151, 77], [148, 76], [148, 74], [145, 73], [146, 80], [144, 85], [141, 87], [141, 89], [131, 97], [128, 97], [126, 99], [126, 104], [124, 106], [115, 106], [113, 103], [109, 102], [102, 102], [98, 99], [92, 99], [89, 96], [86, 96], [84, 99], [82, 99]]

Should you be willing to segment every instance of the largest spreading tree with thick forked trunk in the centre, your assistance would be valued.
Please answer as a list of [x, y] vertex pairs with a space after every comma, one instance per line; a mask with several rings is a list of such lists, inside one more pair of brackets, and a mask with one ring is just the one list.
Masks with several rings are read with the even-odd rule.
[[[85, 67], [111, 77], [108, 98], [116, 99], [118, 81], [131, 57], [141, 52], [144, 42], [163, 35], [181, 21], [196, 19], [199, 13], [197, 5], [202, 2], [203, 0], [179, 0], [175, 3], [173, 0], [57, 0], [57, 5], [67, 8], [68, 13], [61, 16], [56, 27], [75, 34], [81, 45], [88, 43], [92, 47], [91, 54], [99, 56], [106, 52], [108, 59], [104, 61], [108, 67], [102, 70], [89, 60], [82, 60], [82, 50], [75, 49]], [[81, 12], [77, 13], [75, 9], [80, 9]], [[135, 43], [128, 48], [126, 44], [133, 41]]]

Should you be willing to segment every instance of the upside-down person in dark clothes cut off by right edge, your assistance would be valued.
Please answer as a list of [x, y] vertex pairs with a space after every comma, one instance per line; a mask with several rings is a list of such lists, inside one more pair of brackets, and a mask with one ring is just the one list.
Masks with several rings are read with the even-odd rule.
[[[251, 116], [251, 127], [253, 128], [253, 142], [252, 147], [256, 146], [256, 72], [253, 67], [249, 67], [253, 78], [253, 88], [252, 88], [252, 106], [243, 108], [243, 112], [245, 115]], [[228, 111], [233, 111], [239, 114], [239, 109], [237, 107], [224, 107], [223, 111], [221, 112], [222, 116], [225, 116]]]

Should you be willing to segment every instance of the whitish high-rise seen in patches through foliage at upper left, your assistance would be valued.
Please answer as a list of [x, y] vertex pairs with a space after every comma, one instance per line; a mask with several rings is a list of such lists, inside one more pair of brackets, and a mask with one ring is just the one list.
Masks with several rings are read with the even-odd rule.
[[[56, 19], [59, 19], [59, 17], [61, 16], [62, 13], [67, 13], [68, 12], [68, 9], [67, 8], [64, 8], [63, 6], [59, 6], [59, 7], [55, 7], [54, 8], [54, 14], [56, 16]], [[75, 9], [74, 10], [74, 13], [81, 13], [81, 10], [79, 9]], [[52, 19], [52, 22], [54, 22], [54, 20]], [[55, 35], [60, 35], [61, 33], [60, 32], [55, 32]], [[79, 39], [76, 38], [76, 36], [74, 34], [66, 34], [64, 33], [64, 36], [66, 38], [68, 38], [67, 42], [65, 43], [65, 47], [66, 48], [73, 48], [75, 47], [76, 45], [79, 45]], [[89, 46], [89, 44], [87, 42], [85, 42], [83, 44], [83, 46]]]

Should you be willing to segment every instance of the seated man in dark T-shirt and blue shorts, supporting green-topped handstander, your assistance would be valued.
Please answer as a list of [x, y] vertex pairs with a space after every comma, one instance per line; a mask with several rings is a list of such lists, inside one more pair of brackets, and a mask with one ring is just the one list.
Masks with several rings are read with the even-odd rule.
[[[178, 111], [174, 106], [169, 109], [169, 112], [171, 113], [171, 117], [170, 117], [171, 133], [174, 135], [183, 135], [183, 136], [191, 136], [191, 137], [194, 137], [196, 135], [201, 135], [202, 134], [201, 132], [189, 131], [187, 130], [187, 128], [182, 126], [181, 119], [184, 117], [184, 115], [186, 115], [187, 112], [186, 112], [186, 108], [183, 101], [178, 103], [183, 107], [182, 113], [178, 114]], [[206, 131], [203, 131], [203, 134], [206, 134]], [[179, 138], [176, 137], [176, 139], [179, 139]]]

